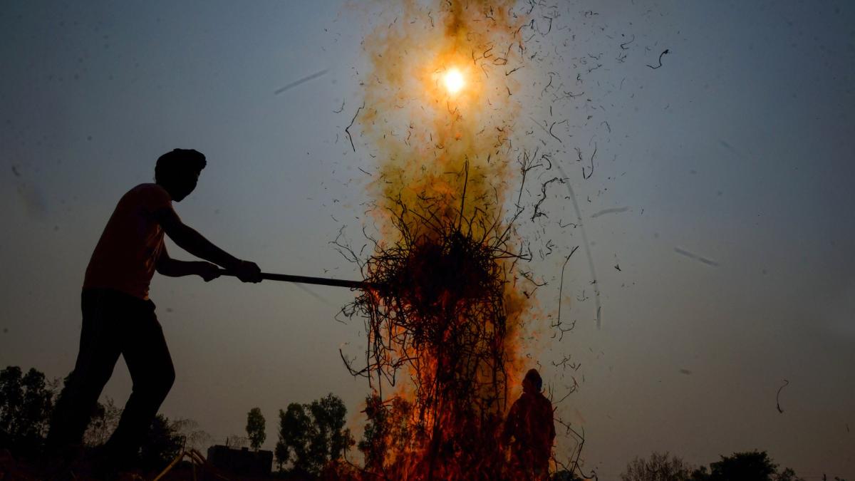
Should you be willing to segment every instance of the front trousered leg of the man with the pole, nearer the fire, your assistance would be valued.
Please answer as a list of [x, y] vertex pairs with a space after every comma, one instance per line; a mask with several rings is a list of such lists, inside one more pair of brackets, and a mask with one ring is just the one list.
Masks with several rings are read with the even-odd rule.
[[118, 427], [107, 442], [109, 453], [119, 462], [133, 460], [175, 380], [172, 358], [154, 304], [143, 300], [138, 303], [134, 306], [133, 322], [124, 333], [121, 351], [131, 372], [133, 391]]

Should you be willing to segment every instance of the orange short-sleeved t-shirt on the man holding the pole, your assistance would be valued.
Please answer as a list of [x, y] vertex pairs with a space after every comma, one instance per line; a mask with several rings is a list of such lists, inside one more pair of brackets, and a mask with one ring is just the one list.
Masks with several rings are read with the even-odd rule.
[[83, 288], [111, 288], [147, 300], [163, 250], [154, 213], [163, 208], [172, 209], [172, 198], [157, 184], [140, 184], [123, 195], [92, 252]]

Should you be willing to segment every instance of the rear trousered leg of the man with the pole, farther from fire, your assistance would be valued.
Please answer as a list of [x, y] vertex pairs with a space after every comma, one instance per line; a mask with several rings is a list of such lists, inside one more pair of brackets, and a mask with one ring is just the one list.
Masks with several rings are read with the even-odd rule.
[[81, 294], [83, 327], [74, 371], [66, 378], [50, 422], [47, 448], [52, 454], [83, 442], [104, 384], [113, 374], [121, 345], [116, 336], [115, 300], [109, 291], [88, 289]]

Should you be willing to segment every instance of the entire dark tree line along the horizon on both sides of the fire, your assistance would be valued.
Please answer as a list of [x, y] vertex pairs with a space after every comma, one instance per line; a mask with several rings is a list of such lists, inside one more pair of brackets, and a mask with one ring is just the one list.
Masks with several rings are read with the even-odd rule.
[[[30, 369], [26, 373], [10, 365], [0, 371], [0, 448], [20, 458], [35, 459], [44, 446], [54, 401], [60, 382], [49, 381], [44, 373]], [[407, 401], [386, 403], [376, 395], [366, 398], [368, 418], [363, 436], [356, 442], [346, 426], [347, 408], [332, 393], [309, 403], [295, 403], [279, 410], [278, 439], [274, 447], [275, 463], [282, 478], [320, 478], [325, 469], [352, 464], [347, 454], [354, 446], [363, 454], [364, 466], [381, 470], [389, 444], [403, 446], [412, 439], [408, 425], [401, 424], [410, 410]], [[109, 439], [121, 418], [121, 408], [113, 400], [98, 402], [84, 435], [86, 447], [94, 448]], [[246, 437], [229, 436], [227, 444], [249, 444], [259, 449], [266, 441], [265, 419], [261, 409], [247, 413]], [[162, 468], [186, 448], [203, 450], [212, 441], [191, 419], [170, 420], [158, 414], [139, 450], [140, 466]], [[356, 466], [354, 466], [356, 467]], [[823, 475], [824, 476], [824, 475]], [[577, 475], [559, 471], [552, 481], [581, 481]], [[669, 453], [653, 453], [647, 458], [629, 461], [621, 481], [804, 481], [791, 468], [779, 466], [765, 451], [750, 451], [720, 456], [709, 466], [692, 466]], [[825, 478], [827, 481], [846, 481]]]

